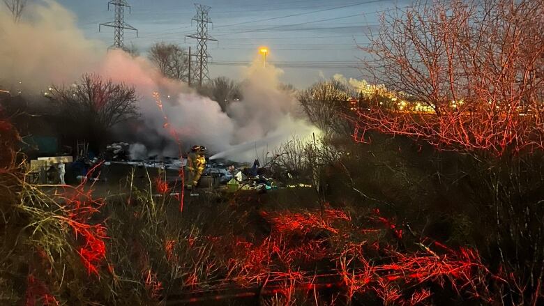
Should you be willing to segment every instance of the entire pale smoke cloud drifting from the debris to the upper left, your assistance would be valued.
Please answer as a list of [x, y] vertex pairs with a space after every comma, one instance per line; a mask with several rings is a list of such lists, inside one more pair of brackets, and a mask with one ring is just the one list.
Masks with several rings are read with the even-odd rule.
[[[294, 135], [317, 132], [301, 116], [294, 95], [279, 89], [282, 70], [273, 66], [265, 69], [255, 61], [245, 68], [244, 99], [233, 102], [225, 113], [216, 101], [162, 77], [146, 58], [105, 52], [105, 44], [85, 38], [77, 29], [75, 15], [59, 3], [33, 3], [25, 13], [24, 19], [15, 23], [5, 8], [0, 9], [0, 70], [5, 72], [0, 85], [22, 82], [26, 89], [38, 93], [50, 84], [71, 84], [90, 72], [135, 86], [145, 126], [134, 136], [150, 153], [179, 154], [154, 92], [160, 93], [169, 126], [176, 130], [184, 149], [202, 144], [211, 153], [223, 152], [225, 158], [248, 161], [255, 158], [257, 148], [273, 148]], [[172, 141], [164, 144], [164, 139]], [[247, 151], [241, 149], [245, 147]]]

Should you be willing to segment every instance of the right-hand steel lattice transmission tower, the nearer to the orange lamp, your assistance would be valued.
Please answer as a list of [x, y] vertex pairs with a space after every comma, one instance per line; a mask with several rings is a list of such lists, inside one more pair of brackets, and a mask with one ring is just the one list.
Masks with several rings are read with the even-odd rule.
[[198, 82], [199, 86], [202, 86], [202, 83], [210, 80], [208, 58], [211, 56], [208, 55], [208, 41], [217, 40], [208, 34], [208, 24], [212, 23], [209, 17], [211, 7], [198, 3], [195, 3], [195, 7], [197, 8], [197, 15], [192, 17], [192, 20], [197, 22], [197, 33], [188, 35], [186, 38], [195, 38], [197, 40], [196, 63], [193, 75], [195, 75], [194, 79]]

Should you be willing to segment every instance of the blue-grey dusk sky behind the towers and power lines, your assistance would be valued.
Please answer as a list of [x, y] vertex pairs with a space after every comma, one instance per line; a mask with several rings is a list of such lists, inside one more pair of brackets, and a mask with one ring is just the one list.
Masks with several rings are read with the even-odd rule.
[[[139, 30], [126, 31], [125, 44], [134, 43], [142, 53], [157, 42], [177, 43], [183, 47], [196, 46], [195, 40], [185, 36], [196, 32], [194, 1], [128, 0], [132, 14], [126, 22]], [[100, 22], [114, 18], [107, 11], [106, 0], [59, 0], [78, 17], [78, 24], [87, 37], [103, 40], [110, 45], [113, 29], [103, 28]], [[360, 77], [356, 68], [365, 54], [357, 45], [368, 42], [366, 35], [376, 29], [381, 12], [398, 1], [354, 0], [206, 0], [199, 3], [211, 6], [213, 29], [209, 34], [218, 43], [209, 43], [209, 53], [216, 62], [247, 62], [258, 56], [257, 49], [270, 49], [269, 61], [296, 63], [305, 68], [282, 68], [282, 81], [296, 86], [308, 86], [323, 77], [340, 73], [346, 77]], [[308, 63], [318, 62], [318, 63]], [[224, 63], [225, 64], [225, 63]], [[311, 68], [307, 68], [311, 66]], [[240, 66], [209, 66], [210, 76], [239, 78]]]

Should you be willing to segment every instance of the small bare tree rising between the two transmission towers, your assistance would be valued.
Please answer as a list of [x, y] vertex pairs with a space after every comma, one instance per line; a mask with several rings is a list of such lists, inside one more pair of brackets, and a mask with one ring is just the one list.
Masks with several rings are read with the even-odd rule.
[[149, 50], [149, 59], [165, 77], [181, 81], [188, 80], [188, 52], [179, 45], [156, 43]]

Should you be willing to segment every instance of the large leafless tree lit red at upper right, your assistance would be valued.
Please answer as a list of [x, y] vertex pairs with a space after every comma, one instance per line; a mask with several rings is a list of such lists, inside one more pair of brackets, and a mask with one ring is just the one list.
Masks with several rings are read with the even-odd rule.
[[[495, 153], [543, 148], [543, 2], [432, 1], [384, 15], [366, 70], [435, 116], [375, 108], [359, 128]], [[535, 18], [536, 16], [539, 16]]]

